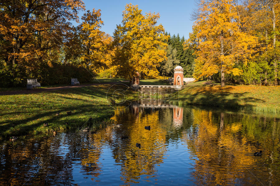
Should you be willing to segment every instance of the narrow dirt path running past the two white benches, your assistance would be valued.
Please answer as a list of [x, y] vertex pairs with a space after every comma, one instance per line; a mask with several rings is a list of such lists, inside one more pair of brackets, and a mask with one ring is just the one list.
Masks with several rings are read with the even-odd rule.
[[68, 88], [78, 88], [78, 87], [92, 86], [92, 85], [111, 85], [111, 84], [123, 83], [123, 82], [129, 82], [129, 81], [92, 83], [92, 84], [74, 85], [74, 86], [58, 86], [58, 87], [37, 88], [37, 89], [21, 90], [21, 91], [6, 91], [6, 92], [0, 92], [0, 95], [16, 95], [16, 94], [32, 94], [32, 93], [37, 93], [37, 92], [51, 92], [51, 91], [56, 91], [56, 90], [61, 90], [61, 89], [68, 89]]

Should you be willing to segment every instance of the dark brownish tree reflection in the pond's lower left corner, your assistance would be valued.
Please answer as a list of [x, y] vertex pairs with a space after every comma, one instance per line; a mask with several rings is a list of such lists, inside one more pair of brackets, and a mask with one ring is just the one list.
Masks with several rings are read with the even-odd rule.
[[[59, 155], [60, 138], [31, 138], [0, 148], [0, 185], [70, 184], [68, 159]], [[61, 174], [63, 172], [63, 175]]]

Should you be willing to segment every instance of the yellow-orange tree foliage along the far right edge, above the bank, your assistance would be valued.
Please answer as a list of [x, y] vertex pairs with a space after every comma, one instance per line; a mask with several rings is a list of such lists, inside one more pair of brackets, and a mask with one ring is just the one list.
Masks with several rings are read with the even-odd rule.
[[[278, 85], [278, 65], [280, 62], [279, 49], [279, 19], [280, 3], [274, 0], [248, 1], [247, 14], [244, 16], [244, 24], [250, 34], [258, 37], [260, 43], [260, 55], [256, 66], [264, 69], [264, 84], [268, 84], [269, 77], [274, 85]], [[272, 75], [272, 76], [271, 76]]]

